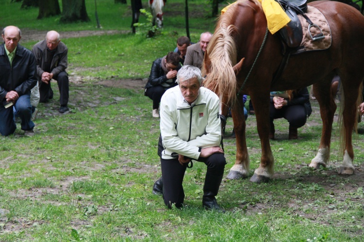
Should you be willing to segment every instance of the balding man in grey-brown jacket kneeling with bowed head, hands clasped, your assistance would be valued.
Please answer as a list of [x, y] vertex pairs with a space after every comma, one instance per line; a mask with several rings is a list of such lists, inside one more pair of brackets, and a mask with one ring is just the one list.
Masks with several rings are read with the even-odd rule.
[[47, 32], [46, 39], [33, 46], [37, 62], [40, 102], [48, 102], [53, 98], [50, 80], [56, 80], [60, 93], [60, 113], [69, 111], [67, 106], [69, 81], [65, 71], [68, 64], [67, 52], [66, 45], [61, 42], [59, 33], [55, 31]]

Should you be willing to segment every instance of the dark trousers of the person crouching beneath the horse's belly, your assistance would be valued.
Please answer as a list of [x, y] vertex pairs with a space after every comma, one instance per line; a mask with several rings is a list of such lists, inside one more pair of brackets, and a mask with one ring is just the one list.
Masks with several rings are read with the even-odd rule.
[[300, 128], [307, 121], [307, 110], [304, 105], [290, 105], [276, 109], [274, 104], [270, 103], [269, 115], [271, 123], [273, 119], [285, 118], [292, 128]]

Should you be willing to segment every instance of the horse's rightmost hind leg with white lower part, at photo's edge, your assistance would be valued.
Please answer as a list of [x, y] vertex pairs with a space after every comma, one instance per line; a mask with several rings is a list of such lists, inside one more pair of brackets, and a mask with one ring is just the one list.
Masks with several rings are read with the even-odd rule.
[[[349, 80], [349, 79], [346, 79]], [[353, 83], [352, 80], [359, 80]], [[350, 82], [342, 80], [344, 91], [343, 127], [341, 127], [341, 147], [344, 153], [343, 163], [339, 168], [339, 174], [352, 175], [354, 173], [354, 150], [352, 146], [352, 131], [357, 123], [358, 96], [361, 90], [361, 79], [352, 78]], [[344, 142], [344, 143], [343, 143]]]

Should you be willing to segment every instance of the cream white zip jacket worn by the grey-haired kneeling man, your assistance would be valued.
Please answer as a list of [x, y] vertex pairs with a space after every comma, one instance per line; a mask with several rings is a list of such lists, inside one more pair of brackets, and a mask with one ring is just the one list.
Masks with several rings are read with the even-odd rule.
[[197, 160], [200, 148], [220, 145], [219, 98], [211, 90], [200, 87], [191, 106], [175, 86], [165, 92], [160, 107], [163, 159], [181, 154]]

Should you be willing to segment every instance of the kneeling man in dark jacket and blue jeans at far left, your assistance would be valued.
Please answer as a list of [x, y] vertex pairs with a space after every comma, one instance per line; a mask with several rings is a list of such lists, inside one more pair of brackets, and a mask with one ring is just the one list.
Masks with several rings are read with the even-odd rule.
[[20, 38], [21, 32], [15, 26], [2, 30], [5, 43], [0, 45], [0, 133], [4, 136], [17, 129], [13, 105], [25, 135], [34, 134], [30, 95], [37, 82], [36, 64], [32, 51], [18, 45]]

